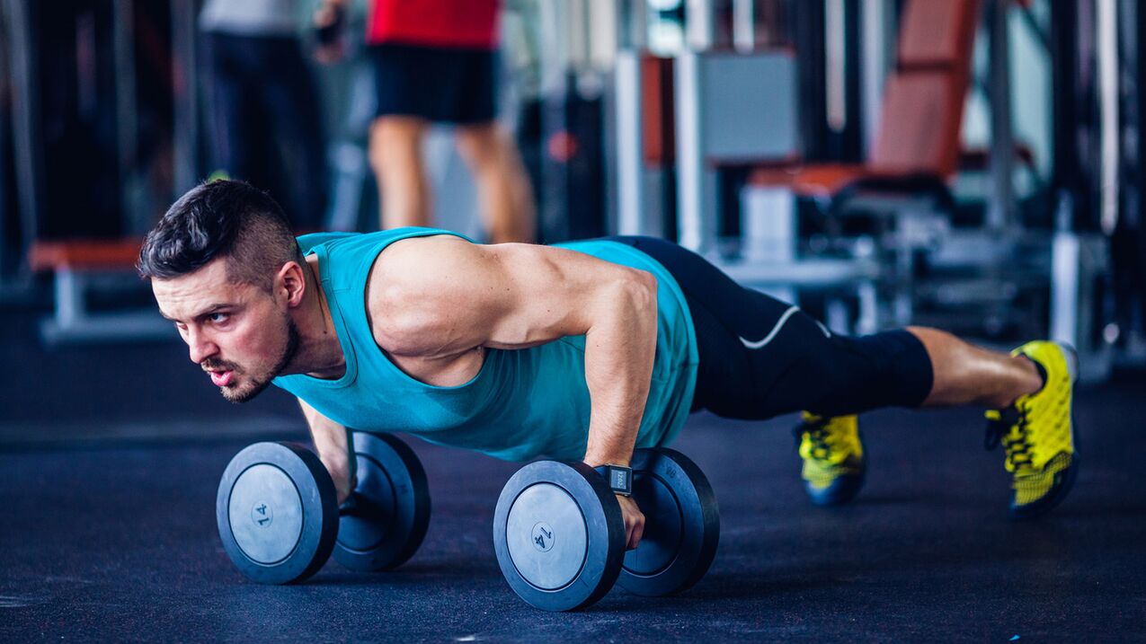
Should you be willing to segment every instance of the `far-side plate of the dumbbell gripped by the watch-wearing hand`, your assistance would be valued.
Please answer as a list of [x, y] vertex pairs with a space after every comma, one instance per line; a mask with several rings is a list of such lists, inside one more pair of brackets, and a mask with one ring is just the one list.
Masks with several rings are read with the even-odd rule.
[[626, 553], [617, 583], [652, 597], [686, 590], [716, 555], [716, 495], [700, 468], [675, 449], [638, 449], [631, 466], [633, 497], [645, 528], [637, 549]]

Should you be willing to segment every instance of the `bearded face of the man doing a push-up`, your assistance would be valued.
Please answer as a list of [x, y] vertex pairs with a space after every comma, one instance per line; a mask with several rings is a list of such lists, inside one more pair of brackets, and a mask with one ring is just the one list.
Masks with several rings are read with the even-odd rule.
[[175, 322], [191, 362], [231, 402], [246, 402], [298, 350], [298, 329], [281, 298], [227, 275], [225, 259], [171, 280], [151, 280], [164, 317]]

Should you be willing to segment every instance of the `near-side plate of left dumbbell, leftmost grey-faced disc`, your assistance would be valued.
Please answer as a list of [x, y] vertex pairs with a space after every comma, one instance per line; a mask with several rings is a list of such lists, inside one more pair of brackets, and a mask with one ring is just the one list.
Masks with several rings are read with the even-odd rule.
[[335, 486], [305, 447], [257, 442], [223, 471], [215, 520], [223, 550], [248, 579], [301, 581], [327, 563], [335, 545]]

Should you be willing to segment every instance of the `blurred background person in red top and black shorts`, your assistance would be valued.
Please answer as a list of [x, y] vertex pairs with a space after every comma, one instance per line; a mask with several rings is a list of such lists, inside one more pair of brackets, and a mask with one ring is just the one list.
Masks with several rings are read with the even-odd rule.
[[[346, 0], [324, 0], [320, 29], [340, 23]], [[497, 117], [497, 0], [372, 0], [367, 42], [377, 117], [369, 158], [383, 229], [427, 226], [432, 197], [422, 152], [433, 124], [452, 124], [473, 174], [490, 243], [535, 237], [533, 195], [513, 139]], [[339, 46], [323, 48], [335, 60]]]

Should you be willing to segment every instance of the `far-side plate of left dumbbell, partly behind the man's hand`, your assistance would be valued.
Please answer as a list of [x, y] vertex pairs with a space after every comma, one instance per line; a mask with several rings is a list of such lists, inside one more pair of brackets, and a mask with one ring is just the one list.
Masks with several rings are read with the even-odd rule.
[[430, 487], [414, 450], [388, 434], [354, 432], [355, 494], [367, 502], [338, 523], [335, 560], [384, 571], [414, 556], [430, 525]]

